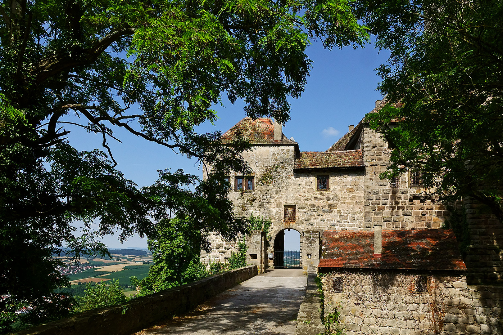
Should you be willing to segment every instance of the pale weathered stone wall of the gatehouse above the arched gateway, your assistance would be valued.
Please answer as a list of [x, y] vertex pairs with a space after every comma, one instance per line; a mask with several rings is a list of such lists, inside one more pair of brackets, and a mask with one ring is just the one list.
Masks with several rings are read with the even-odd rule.
[[[306, 230], [361, 230], [363, 229], [364, 170], [330, 170], [295, 172], [295, 147], [256, 146], [245, 152], [255, 175], [254, 191], [229, 193], [237, 215], [264, 215], [273, 224], [270, 229], [273, 241], [268, 250], [273, 252], [276, 234], [285, 228], [302, 233]], [[329, 189], [316, 190], [316, 176], [329, 175]], [[234, 185], [234, 176], [230, 176]], [[284, 205], [296, 205], [296, 221], [283, 221]], [[222, 241], [210, 236], [213, 251], [202, 253], [202, 260], [225, 261], [235, 250], [234, 241]]]

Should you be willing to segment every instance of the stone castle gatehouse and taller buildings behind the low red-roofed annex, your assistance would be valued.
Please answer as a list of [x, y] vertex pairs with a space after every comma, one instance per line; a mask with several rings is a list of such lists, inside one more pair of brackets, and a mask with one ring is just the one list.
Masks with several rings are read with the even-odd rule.
[[[374, 111], [384, 105], [376, 101]], [[423, 230], [443, 224], [445, 206], [425, 196], [428, 190], [422, 188], [420, 175], [404, 174], [391, 183], [379, 178], [389, 157], [380, 134], [364, 120], [349, 128], [322, 152], [301, 152], [299, 144], [283, 134], [281, 124], [270, 119], [244, 118], [222, 135], [222, 142], [228, 143], [240, 131], [254, 144], [253, 150], [243, 154], [253, 169], [251, 176], [229, 176], [235, 210], [272, 220], [266, 232], [272, 236], [270, 243], [264, 236], [250, 237], [250, 262], [263, 268], [273, 265], [270, 256], [275, 244], [281, 246], [277, 238], [285, 229], [300, 233], [302, 267], [305, 272], [316, 272], [323, 231], [365, 231], [375, 226]], [[218, 236], [211, 240], [213, 252], [203, 253], [202, 260], [225, 261], [235, 242]]]

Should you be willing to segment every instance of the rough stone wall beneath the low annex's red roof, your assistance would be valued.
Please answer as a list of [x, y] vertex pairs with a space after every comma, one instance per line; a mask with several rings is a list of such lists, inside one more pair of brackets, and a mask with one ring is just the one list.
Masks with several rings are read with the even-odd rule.
[[[333, 292], [333, 277], [344, 277]], [[333, 272], [322, 278], [325, 313], [337, 308], [347, 335], [503, 334], [503, 287], [470, 286], [465, 276], [429, 276], [417, 292], [417, 275]], [[326, 314], [325, 314], [326, 316]]]

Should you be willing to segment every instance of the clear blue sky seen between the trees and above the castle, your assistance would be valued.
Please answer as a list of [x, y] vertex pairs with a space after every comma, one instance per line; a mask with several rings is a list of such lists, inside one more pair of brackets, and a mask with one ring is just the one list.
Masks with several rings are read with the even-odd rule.
[[[374, 108], [375, 100], [382, 98], [381, 93], [376, 91], [380, 77], [375, 69], [386, 62], [388, 52], [378, 53], [373, 44], [368, 44], [364, 49], [330, 51], [314, 42], [306, 53], [313, 61], [313, 68], [301, 98], [290, 99], [291, 119], [283, 128], [283, 133], [289, 138], [294, 137], [300, 151], [325, 151], [347, 133], [349, 125], [358, 124]], [[215, 126], [209, 123], [198, 126], [198, 132], [225, 132], [246, 116], [242, 102], [224, 104], [224, 107], [216, 107], [219, 119]], [[118, 162], [117, 168], [138, 186], [152, 184], [157, 179], [157, 170], [166, 167], [202, 175], [195, 160], [188, 160], [169, 148], [147, 142], [120, 129], [114, 131], [122, 141], [109, 141]], [[78, 150], [101, 148], [102, 141], [99, 136], [73, 128], [68, 140]], [[122, 245], [117, 236], [107, 236], [103, 242], [109, 248], [146, 248], [147, 245], [146, 239], [139, 237], [131, 237]]]

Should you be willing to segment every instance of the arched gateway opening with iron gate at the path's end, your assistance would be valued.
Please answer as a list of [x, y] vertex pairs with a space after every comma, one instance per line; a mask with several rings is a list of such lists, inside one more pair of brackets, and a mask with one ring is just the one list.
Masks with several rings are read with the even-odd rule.
[[[285, 244], [285, 231], [286, 230], [279, 232], [274, 239], [274, 267], [276, 269], [301, 269], [300, 233], [295, 230], [288, 229], [288, 241]], [[295, 237], [292, 237], [292, 234], [290, 234], [290, 231], [296, 233], [293, 234], [294, 236], [298, 235], [299, 250], [285, 250], [285, 245], [287, 249], [293, 249], [292, 246], [295, 246], [295, 243], [292, 244], [292, 241], [290, 241], [292, 238], [295, 239]]]

